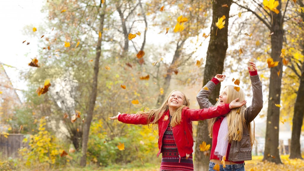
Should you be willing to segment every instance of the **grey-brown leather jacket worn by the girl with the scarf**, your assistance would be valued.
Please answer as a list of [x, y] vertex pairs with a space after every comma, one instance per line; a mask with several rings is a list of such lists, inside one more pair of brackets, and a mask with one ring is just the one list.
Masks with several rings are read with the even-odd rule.
[[[243, 136], [241, 141], [232, 141], [229, 156], [227, 156], [227, 159], [233, 162], [252, 159], [250, 137], [247, 126], [255, 117], [257, 117], [263, 107], [262, 83], [260, 82], [259, 75], [250, 76], [250, 79], [253, 98], [251, 105], [247, 107], [244, 113], [247, 125], [244, 125], [243, 127]], [[201, 108], [213, 106], [209, 102], [208, 96], [216, 85], [214, 82], [209, 81], [206, 86], [208, 87], [208, 90], [201, 89], [199, 94], [196, 96]]]

